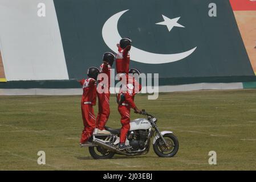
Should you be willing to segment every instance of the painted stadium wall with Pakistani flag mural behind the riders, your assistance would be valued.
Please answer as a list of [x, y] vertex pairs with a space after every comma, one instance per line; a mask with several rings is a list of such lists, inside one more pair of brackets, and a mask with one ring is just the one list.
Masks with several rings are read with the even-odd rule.
[[[254, 27], [245, 27], [256, 2], [243, 9], [250, 11], [249, 16], [241, 16], [237, 7], [245, 1], [0, 0], [2, 81], [7, 81], [0, 82], [0, 94], [11, 89], [33, 90], [27, 94], [36, 94], [36, 89], [78, 89], [75, 80], [86, 77], [88, 67], [99, 66], [104, 52], [117, 51], [111, 46], [118, 42], [112, 36], [115, 31], [131, 37], [133, 47], [140, 51], [131, 50], [131, 67], [159, 73], [162, 92], [254, 88], [256, 49], [251, 46], [255, 33], [247, 36]], [[38, 3], [46, 5], [46, 17], [37, 15]], [[208, 14], [210, 3], [217, 5], [216, 17]], [[124, 10], [109, 32], [109, 43], [103, 27]], [[156, 24], [164, 20], [162, 15], [180, 17], [177, 23], [183, 27], [168, 31]], [[192, 49], [177, 59], [175, 54]], [[139, 59], [141, 52], [147, 53]], [[152, 60], [152, 53], [159, 59]], [[169, 63], [159, 63], [163, 55], [172, 55]]]

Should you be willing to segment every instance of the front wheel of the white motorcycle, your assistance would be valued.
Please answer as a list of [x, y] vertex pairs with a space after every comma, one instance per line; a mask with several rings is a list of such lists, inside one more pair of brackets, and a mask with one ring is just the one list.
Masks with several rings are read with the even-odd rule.
[[167, 146], [161, 138], [157, 139], [153, 144], [153, 149], [156, 155], [161, 158], [171, 158], [178, 152], [178, 139], [173, 134], [165, 134], [164, 139], [166, 140]]

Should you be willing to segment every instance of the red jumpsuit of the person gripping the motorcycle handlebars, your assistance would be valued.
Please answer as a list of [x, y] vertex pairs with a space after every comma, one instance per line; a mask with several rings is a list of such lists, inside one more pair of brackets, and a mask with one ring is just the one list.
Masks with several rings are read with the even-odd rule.
[[[124, 102], [118, 106], [118, 111], [121, 115], [121, 132], [120, 132], [120, 143], [125, 143], [126, 135], [130, 129], [130, 111], [131, 108], [134, 109], [136, 107], [134, 103], [134, 97], [136, 93], [139, 93], [141, 90], [141, 85], [139, 85], [139, 90], [135, 87], [136, 81], [133, 80], [133, 84], [127, 84], [127, 91], [123, 92], [124, 94]], [[120, 100], [120, 95], [122, 91], [120, 90], [117, 99]]]

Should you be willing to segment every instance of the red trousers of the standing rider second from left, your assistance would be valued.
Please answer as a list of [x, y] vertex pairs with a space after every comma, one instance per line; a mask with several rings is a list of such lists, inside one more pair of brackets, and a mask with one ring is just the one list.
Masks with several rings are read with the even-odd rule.
[[108, 121], [110, 93], [97, 93], [99, 113], [97, 114], [96, 127], [97, 129], [104, 130], [105, 124]]

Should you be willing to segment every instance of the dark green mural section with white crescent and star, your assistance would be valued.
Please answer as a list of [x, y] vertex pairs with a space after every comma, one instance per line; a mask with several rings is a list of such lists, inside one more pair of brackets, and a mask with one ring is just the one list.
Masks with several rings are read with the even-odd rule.
[[[216, 3], [217, 16], [209, 16]], [[133, 40], [131, 67], [160, 77], [254, 75], [229, 1], [55, 0], [70, 78]]]

